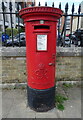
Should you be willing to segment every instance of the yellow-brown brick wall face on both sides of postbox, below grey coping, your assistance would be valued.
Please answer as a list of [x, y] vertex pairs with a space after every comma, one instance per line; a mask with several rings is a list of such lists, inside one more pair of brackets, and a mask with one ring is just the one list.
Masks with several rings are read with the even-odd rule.
[[[56, 80], [81, 79], [81, 57], [60, 57], [56, 60]], [[2, 57], [2, 83], [26, 82], [26, 57]]]

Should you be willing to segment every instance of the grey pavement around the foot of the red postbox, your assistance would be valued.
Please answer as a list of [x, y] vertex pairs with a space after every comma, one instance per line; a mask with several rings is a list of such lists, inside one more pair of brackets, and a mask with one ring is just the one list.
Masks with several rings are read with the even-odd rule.
[[81, 118], [81, 88], [74, 86], [66, 91], [60, 86], [58, 92], [68, 96], [65, 110], [57, 108], [48, 112], [35, 112], [27, 106], [26, 89], [2, 90], [2, 118]]

